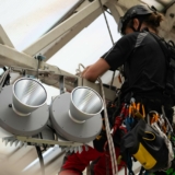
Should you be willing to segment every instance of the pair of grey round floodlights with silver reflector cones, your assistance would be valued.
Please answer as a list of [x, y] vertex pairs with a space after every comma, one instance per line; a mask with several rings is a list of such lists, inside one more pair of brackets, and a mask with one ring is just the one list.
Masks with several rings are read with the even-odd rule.
[[86, 143], [102, 129], [103, 101], [98, 93], [78, 86], [46, 104], [47, 92], [38, 80], [22, 78], [0, 93], [0, 127], [14, 136], [34, 137], [48, 120], [56, 135], [68, 141]]

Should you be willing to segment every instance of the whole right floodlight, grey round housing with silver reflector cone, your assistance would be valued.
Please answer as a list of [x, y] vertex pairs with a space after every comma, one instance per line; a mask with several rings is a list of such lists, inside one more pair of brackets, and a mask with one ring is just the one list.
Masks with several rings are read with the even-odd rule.
[[96, 91], [78, 86], [54, 98], [49, 113], [51, 126], [67, 140], [90, 142], [102, 130], [103, 108], [103, 100]]

